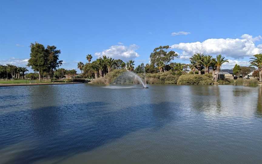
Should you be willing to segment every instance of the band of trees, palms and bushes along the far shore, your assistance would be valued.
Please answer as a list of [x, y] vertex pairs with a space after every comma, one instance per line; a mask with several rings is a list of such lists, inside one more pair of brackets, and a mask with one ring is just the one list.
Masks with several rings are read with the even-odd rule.
[[[228, 62], [228, 59], [221, 54], [212, 57], [203, 53], [196, 53], [190, 57], [190, 64], [173, 62], [178, 54], [170, 50], [170, 46], [160, 46], [150, 54], [150, 62], [141, 63], [135, 68], [135, 61], [127, 62], [121, 59], [101, 56], [92, 61], [91, 54], [86, 55], [87, 62], [80, 61], [77, 64], [80, 74], [76, 70], [66, 70], [59, 68], [62, 60], [59, 60], [61, 51], [55, 46], [46, 48], [37, 42], [30, 45], [31, 53], [28, 67], [32, 67], [35, 73], [27, 74], [29, 79], [44, 79], [45, 81], [61, 80], [66, 74], [71, 74], [75, 79], [90, 79], [93, 84], [112, 84], [114, 80], [126, 71], [138, 74], [141, 78], [146, 76], [147, 84], [185, 84], [185, 85], [204, 85], [204, 84], [234, 84], [257, 86], [262, 82], [262, 54], [256, 54], [250, 58], [250, 66], [258, 68], [253, 72], [254, 79], [243, 79], [250, 73], [249, 67], [235, 65], [233, 74], [238, 79], [218, 79], [221, 66]], [[27, 67], [17, 67], [15, 65], [1, 65], [0, 78], [25, 79]], [[257, 80], [259, 79], [259, 80]], [[67, 79], [70, 81], [71, 79]], [[66, 80], [63, 80], [66, 81]], [[83, 80], [85, 81], [85, 80]], [[129, 81], [130, 82], [130, 81]], [[131, 83], [138, 84], [137, 80]]]

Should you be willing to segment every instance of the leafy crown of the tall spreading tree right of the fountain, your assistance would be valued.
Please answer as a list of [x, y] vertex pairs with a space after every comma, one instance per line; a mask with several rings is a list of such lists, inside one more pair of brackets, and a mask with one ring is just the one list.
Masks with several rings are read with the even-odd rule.
[[164, 66], [167, 65], [171, 60], [174, 60], [175, 57], [178, 55], [175, 51], [169, 51], [170, 47], [167, 46], [160, 46], [155, 48], [153, 53], [150, 54], [150, 62], [154, 66], [163, 62]]

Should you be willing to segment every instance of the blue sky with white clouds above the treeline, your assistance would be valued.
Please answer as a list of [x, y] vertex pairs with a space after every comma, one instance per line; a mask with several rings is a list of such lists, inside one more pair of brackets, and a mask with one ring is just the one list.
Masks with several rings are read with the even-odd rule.
[[262, 53], [261, 0], [1, 1], [0, 18], [0, 64], [27, 64], [35, 41], [60, 49], [67, 69], [86, 54], [148, 63], [160, 45], [179, 53], [174, 62], [196, 52], [225, 55], [224, 68]]

